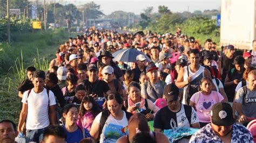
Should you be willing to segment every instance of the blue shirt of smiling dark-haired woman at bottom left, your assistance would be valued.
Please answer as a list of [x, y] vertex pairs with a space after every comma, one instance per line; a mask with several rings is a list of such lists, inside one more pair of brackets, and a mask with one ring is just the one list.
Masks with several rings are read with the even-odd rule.
[[[75, 132], [69, 132], [66, 130], [65, 127], [63, 127], [66, 133], [66, 142], [67, 143], [73, 143], [73, 142], [80, 142], [83, 139], [83, 132], [82, 130], [78, 127]], [[85, 138], [91, 137], [89, 131], [85, 128]]]

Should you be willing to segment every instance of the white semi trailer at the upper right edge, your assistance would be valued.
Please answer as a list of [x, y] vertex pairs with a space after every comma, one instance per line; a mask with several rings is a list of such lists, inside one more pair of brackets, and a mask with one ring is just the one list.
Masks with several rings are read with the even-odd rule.
[[220, 46], [251, 49], [256, 39], [256, 0], [221, 0]]

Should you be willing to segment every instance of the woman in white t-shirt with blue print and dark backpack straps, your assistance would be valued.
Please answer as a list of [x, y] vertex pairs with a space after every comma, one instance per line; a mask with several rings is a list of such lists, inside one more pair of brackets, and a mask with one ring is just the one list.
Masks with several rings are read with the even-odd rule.
[[122, 110], [123, 99], [118, 93], [107, 96], [107, 109], [100, 112], [92, 123], [90, 134], [99, 142], [116, 142], [127, 134], [131, 113]]

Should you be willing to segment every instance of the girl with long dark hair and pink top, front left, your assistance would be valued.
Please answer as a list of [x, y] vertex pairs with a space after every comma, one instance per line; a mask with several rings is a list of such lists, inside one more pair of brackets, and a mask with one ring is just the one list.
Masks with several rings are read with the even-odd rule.
[[100, 108], [95, 99], [91, 96], [85, 96], [80, 104], [77, 125], [91, 130], [95, 117], [100, 113]]

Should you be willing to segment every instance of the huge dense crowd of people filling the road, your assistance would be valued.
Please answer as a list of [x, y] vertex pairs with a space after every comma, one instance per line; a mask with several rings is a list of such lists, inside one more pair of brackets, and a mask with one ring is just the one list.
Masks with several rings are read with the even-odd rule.
[[[254, 142], [256, 40], [252, 47], [218, 51], [180, 28], [89, 28], [58, 47], [48, 71], [26, 69], [18, 126], [0, 121], [0, 142], [170, 142], [166, 132], [177, 128], [197, 128], [178, 142]], [[140, 54], [116, 61], [123, 49]]]

